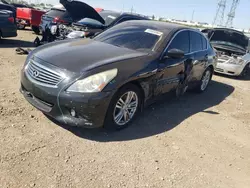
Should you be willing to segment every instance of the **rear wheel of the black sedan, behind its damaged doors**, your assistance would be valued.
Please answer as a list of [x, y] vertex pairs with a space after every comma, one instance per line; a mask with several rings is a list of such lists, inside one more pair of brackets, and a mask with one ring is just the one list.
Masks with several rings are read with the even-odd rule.
[[[210, 67], [208, 67], [202, 77], [201, 77], [201, 80], [199, 81], [197, 87], [195, 88], [196, 92], [198, 93], [203, 93], [204, 91], [207, 90], [207, 87], [212, 79], [212, 76], [213, 76], [213, 71]], [[206, 82], [206, 83], [204, 83]], [[203, 85], [204, 84], [204, 85]]]

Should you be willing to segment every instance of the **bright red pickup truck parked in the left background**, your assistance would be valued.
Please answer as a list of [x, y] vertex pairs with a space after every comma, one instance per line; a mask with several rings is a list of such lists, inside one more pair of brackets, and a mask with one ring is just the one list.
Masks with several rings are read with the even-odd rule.
[[45, 14], [45, 11], [34, 8], [17, 8], [16, 20], [18, 28], [25, 29], [25, 27], [28, 26], [31, 27], [36, 34], [39, 34], [39, 25], [43, 14]]

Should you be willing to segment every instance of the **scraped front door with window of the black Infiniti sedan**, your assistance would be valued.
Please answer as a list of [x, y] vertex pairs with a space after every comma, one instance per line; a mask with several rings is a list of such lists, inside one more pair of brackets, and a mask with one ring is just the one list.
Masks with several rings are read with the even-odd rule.
[[186, 55], [183, 58], [163, 58], [159, 62], [156, 95], [164, 94], [175, 89], [180, 81], [180, 75], [184, 72], [185, 61], [190, 61], [189, 31], [183, 30], [173, 36], [172, 41], [166, 47], [165, 54], [171, 49], [182, 50]]

